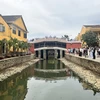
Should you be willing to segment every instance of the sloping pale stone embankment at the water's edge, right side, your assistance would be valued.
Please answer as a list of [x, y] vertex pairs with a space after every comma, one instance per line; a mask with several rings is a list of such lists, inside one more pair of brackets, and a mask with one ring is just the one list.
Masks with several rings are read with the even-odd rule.
[[61, 61], [82, 78], [84, 82], [89, 83], [94, 89], [100, 91], [100, 76], [97, 73], [87, 70], [85, 67], [72, 63], [64, 58], [61, 59]]

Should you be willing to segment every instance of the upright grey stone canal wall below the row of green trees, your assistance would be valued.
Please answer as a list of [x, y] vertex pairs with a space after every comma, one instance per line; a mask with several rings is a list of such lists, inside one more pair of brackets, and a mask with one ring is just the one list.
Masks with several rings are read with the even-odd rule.
[[34, 54], [2, 59], [2, 60], [0, 60], [0, 70], [21, 64], [23, 62], [30, 61], [32, 59], [34, 59]]

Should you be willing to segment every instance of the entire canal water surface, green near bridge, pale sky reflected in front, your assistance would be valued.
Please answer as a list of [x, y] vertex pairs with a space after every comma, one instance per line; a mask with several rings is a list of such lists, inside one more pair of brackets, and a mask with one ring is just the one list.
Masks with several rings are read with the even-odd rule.
[[0, 100], [100, 100], [100, 92], [61, 61], [48, 59], [0, 82]]

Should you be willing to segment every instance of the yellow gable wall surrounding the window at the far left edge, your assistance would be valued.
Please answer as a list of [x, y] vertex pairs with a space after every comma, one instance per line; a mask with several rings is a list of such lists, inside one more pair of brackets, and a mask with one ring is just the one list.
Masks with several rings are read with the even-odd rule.
[[11, 35], [10, 27], [1, 16], [0, 16], [0, 24], [3, 24], [5, 26], [5, 32], [0, 32], [0, 40], [4, 38], [8, 40]]

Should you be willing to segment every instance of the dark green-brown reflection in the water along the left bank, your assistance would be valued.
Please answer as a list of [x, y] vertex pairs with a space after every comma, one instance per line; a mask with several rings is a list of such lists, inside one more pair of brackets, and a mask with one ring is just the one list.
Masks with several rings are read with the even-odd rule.
[[33, 74], [34, 70], [31, 67], [0, 82], [0, 100], [24, 100], [28, 77]]

